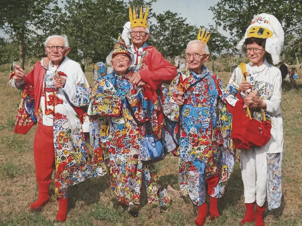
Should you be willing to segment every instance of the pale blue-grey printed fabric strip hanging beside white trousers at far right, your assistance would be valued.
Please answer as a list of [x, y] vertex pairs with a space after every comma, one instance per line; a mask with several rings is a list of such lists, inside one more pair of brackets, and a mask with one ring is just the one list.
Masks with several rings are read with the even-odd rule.
[[267, 153], [267, 202], [268, 209], [276, 209], [281, 206], [282, 199], [282, 158], [283, 152]]

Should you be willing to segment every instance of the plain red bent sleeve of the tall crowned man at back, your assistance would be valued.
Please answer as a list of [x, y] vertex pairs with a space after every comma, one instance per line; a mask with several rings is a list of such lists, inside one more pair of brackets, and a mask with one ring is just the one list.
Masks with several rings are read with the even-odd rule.
[[176, 76], [177, 69], [169, 61], [165, 60], [156, 48], [153, 48], [148, 58], [148, 67], [139, 71], [143, 82], [152, 89], [158, 89], [162, 83], [169, 84]]

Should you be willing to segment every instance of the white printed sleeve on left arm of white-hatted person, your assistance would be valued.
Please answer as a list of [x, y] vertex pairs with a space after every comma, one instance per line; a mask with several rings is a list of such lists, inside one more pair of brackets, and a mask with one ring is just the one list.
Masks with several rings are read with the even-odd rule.
[[241, 80], [242, 80], [242, 74], [240, 68], [237, 67], [232, 74], [229, 84], [226, 86], [226, 89], [224, 90], [223, 101], [227, 101], [230, 105], [235, 106], [236, 102], [238, 101], [237, 94], [238, 92], [240, 92], [239, 84]]

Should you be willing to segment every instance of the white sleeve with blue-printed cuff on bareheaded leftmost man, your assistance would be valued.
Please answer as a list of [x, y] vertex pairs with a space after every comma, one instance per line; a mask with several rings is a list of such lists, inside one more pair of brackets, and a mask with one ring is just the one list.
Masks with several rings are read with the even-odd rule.
[[66, 79], [65, 86], [62, 89], [74, 106], [83, 107], [89, 104], [91, 94], [88, 81], [80, 65], [74, 76], [76, 79], [73, 81]]

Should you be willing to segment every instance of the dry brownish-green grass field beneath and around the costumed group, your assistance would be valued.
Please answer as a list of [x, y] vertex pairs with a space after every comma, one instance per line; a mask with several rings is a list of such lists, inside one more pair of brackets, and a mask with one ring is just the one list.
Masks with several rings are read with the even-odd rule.
[[[224, 82], [230, 73], [218, 73]], [[91, 85], [92, 73], [86, 73]], [[0, 72], [0, 225], [104, 225], [104, 226], [182, 226], [194, 225], [197, 209], [188, 196], [171, 193], [172, 206], [168, 209], [152, 208], [146, 205], [146, 192], [138, 218], [132, 218], [127, 209], [121, 207], [109, 189], [108, 176], [93, 178], [69, 189], [69, 213], [64, 223], [55, 220], [58, 201], [51, 184], [51, 201], [40, 213], [31, 212], [29, 204], [38, 195], [35, 179], [33, 139], [36, 127], [27, 135], [14, 134], [14, 121], [20, 102], [20, 91], [8, 84], [8, 73]], [[302, 81], [296, 89], [286, 83], [283, 88], [282, 116], [284, 120], [284, 162], [283, 162], [283, 201], [274, 211], [265, 212], [266, 226], [302, 225]], [[178, 186], [178, 159], [173, 156], [157, 164], [159, 183]], [[239, 162], [230, 178], [227, 190], [219, 200], [221, 218], [211, 222], [207, 218], [205, 225], [240, 225], [245, 205], [243, 183]], [[254, 223], [246, 224], [252, 226]]]

